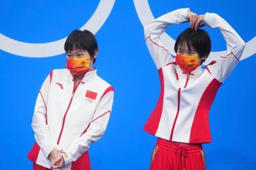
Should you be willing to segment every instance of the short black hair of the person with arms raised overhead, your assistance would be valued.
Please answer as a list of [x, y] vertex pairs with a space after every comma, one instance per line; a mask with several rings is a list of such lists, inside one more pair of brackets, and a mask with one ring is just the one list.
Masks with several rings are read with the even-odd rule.
[[[175, 42], [174, 50], [177, 53], [179, 45], [186, 44], [190, 49], [194, 49], [199, 57], [208, 57], [211, 52], [211, 39], [209, 34], [203, 29], [194, 30], [191, 28], [181, 32]], [[206, 59], [205, 58], [205, 59]], [[205, 59], [202, 62], [205, 62]]]

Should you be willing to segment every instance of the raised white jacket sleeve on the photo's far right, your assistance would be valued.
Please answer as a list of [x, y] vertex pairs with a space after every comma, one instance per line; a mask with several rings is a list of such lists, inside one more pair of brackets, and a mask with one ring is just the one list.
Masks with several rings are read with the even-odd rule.
[[223, 82], [238, 64], [245, 43], [239, 34], [216, 13], [205, 13], [204, 23], [211, 28], [220, 29], [227, 43], [227, 52], [221, 56], [216, 64], [207, 66], [212, 76], [218, 81]]

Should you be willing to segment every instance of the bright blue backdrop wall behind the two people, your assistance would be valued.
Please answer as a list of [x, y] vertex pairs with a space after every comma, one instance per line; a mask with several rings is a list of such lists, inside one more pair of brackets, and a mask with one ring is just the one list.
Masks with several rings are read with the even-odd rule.
[[[52, 69], [64, 68], [66, 63], [62, 52], [42, 57], [49, 49], [40, 51], [31, 47], [25, 51], [34, 50], [33, 56], [22, 56], [22, 47], [5, 38], [26, 43], [63, 39], [74, 29], [83, 27], [99, 3], [110, 2], [0, 1], [1, 169], [31, 169], [26, 155], [35, 143], [31, 121], [36, 96], [47, 74]], [[139, 0], [112, 2], [113, 8], [107, 5], [111, 13], [106, 16], [106, 22], [94, 32], [99, 43], [95, 67], [98, 74], [115, 87], [115, 102], [106, 133], [90, 148], [92, 169], [148, 169], [156, 138], [143, 131], [143, 125], [156, 105], [159, 78], [145, 45], [143, 21], [138, 17], [140, 11], [136, 11], [135, 4], [140, 9], [146, 7], [140, 6]], [[246, 44], [255, 42], [254, 1], [150, 0], [148, 5], [155, 18], [186, 7], [198, 14], [218, 13]], [[143, 15], [149, 15], [147, 10]], [[173, 25], [166, 33], [175, 39], [186, 27], [188, 24]], [[205, 29], [212, 39], [212, 52], [225, 50], [220, 32]], [[6, 50], [6, 46], [12, 46], [11, 50]], [[255, 43], [253, 46], [256, 48]], [[256, 167], [255, 48], [247, 49], [246, 59], [241, 60], [221, 86], [212, 106], [212, 143], [204, 145], [207, 169]], [[16, 51], [20, 54], [13, 54]]]

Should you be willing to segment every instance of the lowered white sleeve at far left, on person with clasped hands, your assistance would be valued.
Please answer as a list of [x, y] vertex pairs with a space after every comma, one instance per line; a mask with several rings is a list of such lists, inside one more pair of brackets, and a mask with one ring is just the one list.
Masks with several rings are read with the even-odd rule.
[[35, 111], [33, 114], [32, 128], [35, 132], [35, 139], [40, 146], [44, 156], [47, 158], [49, 153], [58, 145], [50, 138], [49, 127], [47, 125], [47, 98], [51, 84], [50, 76], [45, 79], [36, 99]]

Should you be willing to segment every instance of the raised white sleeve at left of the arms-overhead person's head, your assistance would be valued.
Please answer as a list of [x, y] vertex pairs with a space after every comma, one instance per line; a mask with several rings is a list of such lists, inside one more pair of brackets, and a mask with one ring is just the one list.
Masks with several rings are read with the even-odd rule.
[[187, 22], [188, 10], [189, 8], [171, 11], [170, 13], [156, 18], [144, 27], [145, 41], [157, 69], [172, 62], [172, 57], [168, 50], [162, 45], [160, 36], [170, 25]]

